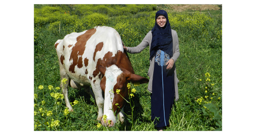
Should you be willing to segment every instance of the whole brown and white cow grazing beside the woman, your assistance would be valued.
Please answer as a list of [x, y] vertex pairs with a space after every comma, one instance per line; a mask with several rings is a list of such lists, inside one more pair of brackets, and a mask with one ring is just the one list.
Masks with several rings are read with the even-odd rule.
[[[121, 37], [111, 27], [97, 26], [80, 33], [68, 34], [64, 39], [55, 42], [55, 49], [59, 59], [61, 80], [63, 78], [69, 80], [62, 90], [69, 111], [73, 109], [67, 96], [70, 83], [71, 87], [77, 89], [83, 87], [86, 92], [95, 96], [99, 108], [97, 120], [101, 120], [103, 125], [105, 122], [102, 116], [106, 115], [106, 122], [111, 121], [107, 124], [113, 127], [117, 113], [121, 112], [115, 104], [118, 103], [119, 107], [123, 108], [126, 103], [116, 93], [116, 89], [121, 90], [120, 94], [127, 98], [130, 93], [130, 89], [127, 88], [128, 83], [149, 82], [147, 78], [134, 74], [131, 62], [123, 50]], [[111, 90], [114, 93], [109, 92]], [[102, 91], [105, 97], [102, 96]], [[112, 110], [117, 112], [116, 115]], [[123, 113], [119, 114], [119, 118], [122, 116]]]

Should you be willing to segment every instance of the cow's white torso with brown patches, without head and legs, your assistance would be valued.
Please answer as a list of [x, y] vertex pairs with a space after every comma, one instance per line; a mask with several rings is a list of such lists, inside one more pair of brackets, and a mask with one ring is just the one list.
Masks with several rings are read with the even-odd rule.
[[69, 77], [86, 85], [103, 77], [99, 64], [107, 66], [117, 59], [118, 51], [123, 52], [121, 37], [111, 27], [95, 27], [68, 34], [57, 40], [55, 48]]

